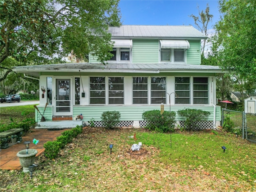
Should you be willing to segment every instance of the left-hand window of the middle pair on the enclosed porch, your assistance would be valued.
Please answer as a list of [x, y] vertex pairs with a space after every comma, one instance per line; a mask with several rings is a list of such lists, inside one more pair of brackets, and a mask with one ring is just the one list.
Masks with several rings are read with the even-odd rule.
[[148, 104], [148, 77], [132, 78], [132, 103]]

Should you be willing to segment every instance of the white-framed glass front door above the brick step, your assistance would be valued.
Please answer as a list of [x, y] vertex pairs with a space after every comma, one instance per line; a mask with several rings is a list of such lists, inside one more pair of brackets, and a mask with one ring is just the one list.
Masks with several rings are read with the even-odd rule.
[[56, 115], [71, 115], [71, 79], [56, 79]]

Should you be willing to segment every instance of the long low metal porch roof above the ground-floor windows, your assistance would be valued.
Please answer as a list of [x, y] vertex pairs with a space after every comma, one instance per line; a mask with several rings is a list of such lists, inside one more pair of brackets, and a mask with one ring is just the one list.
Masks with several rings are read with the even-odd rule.
[[64, 63], [50, 65], [30, 65], [30, 66], [15, 66], [15, 72], [29, 74], [39, 77], [41, 72], [118, 72], [118, 73], [226, 73], [218, 66], [195, 65], [195, 64], [134, 64], [134, 63], [108, 63], [92, 64], [92, 63]]

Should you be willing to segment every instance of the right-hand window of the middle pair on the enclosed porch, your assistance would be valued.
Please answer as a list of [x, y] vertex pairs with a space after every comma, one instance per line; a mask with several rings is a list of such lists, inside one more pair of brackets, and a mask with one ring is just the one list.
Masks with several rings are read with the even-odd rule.
[[151, 104], [166, 103], [166, 77], [151, 77]]

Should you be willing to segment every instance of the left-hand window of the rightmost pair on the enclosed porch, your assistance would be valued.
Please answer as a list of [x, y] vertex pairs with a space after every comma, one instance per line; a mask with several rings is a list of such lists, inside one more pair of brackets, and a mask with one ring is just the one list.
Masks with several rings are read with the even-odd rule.
[[175, 104], [190, 104], [190, 77], [175, 77]]

